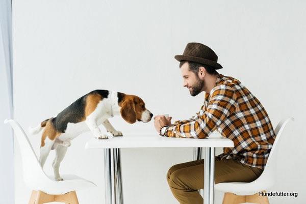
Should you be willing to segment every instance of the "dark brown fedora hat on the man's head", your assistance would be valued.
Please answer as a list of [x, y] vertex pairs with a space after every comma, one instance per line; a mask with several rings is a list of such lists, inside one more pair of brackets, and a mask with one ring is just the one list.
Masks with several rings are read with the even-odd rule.
[[222, 69], [222, 66], [217, 63], [218, 56], [214, 50], [201, 43], [188, 43], [183, 55], [175, 55], [174, 58], [179, 62], [190, 61], [210, 65], [214, 69]]

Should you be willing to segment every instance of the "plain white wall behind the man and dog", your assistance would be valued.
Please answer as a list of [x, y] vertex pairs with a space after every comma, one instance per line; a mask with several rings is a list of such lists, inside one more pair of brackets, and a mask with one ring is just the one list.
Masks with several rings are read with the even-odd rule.
[[[306, 18], [302, 1], [13, 1], [15, 118], [27, 128], [58, 113], [94, 89], [139, 95], [153, 113], [174, 120], [193, 115], [203, 94], [191, 97], [174, 60], [188, 42], [210, 46], [220, 73], [239, 79], [259, 98], [274, 127], [285, 116], [296, 120], [284, 132], [277, 183], [270, 203], [303, 203], [306, 164], [304, 66]], [[124, 132], [154, 131], [153, 123]], [[103, 151], [84, 150], [91, 134], [72, 141], [62, 173], [74, 173], [99, 187], [80, 191], [80, 203], [104, 203]], [[39, 151], [39, 136], [30, 138]], [[52, 174], [48, 158], [45, 171]], [[176, 163], [190, 161], [192, 149], [122, 150], [125, 203], [177, 203], [166, 182]], [[16, 203], [30, 196], [16, 149]], [[216, 193], [216, 203], [222, 200]]]

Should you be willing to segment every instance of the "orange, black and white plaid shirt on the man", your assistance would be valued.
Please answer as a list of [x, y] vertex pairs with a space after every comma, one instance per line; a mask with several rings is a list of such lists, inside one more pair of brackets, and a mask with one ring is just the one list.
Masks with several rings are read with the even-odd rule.
[[276, 137], [269, 116], [239, 80], [222, 74], [210, 94], [205, 94], [200, 111], [189, 120], [163, 127], [161, 135], [206, 138], [215, 130], [235, 146], [223, 148], [217, 157], [264, 169]]

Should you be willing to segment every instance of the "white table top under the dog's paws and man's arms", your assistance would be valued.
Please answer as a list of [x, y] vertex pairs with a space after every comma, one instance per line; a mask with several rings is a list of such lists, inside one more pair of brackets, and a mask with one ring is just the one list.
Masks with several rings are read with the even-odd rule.
[[234, 142], [217, 131], [205, 139], [164, 137], [157, 133], [128, 133], [109, 139], [92, 138], [86, 142], [85, 149], [106, 148], [173, 148], [173, 147], [234, 147]]

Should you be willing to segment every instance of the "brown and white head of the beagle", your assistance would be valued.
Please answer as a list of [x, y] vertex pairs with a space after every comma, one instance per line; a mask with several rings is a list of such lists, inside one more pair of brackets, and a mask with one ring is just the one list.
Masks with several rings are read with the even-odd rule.
[[152, 119], [153, 114], [145, 108], [145, 103], [138, 96], [125, 95], [119, 106], [121, 116], [127, 123], [147, 123]]

